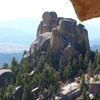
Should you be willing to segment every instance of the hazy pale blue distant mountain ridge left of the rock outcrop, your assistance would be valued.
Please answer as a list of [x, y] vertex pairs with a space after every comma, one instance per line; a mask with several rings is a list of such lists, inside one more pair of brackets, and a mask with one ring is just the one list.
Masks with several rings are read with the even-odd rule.
[[[0, 21], [0, 42], [30, 44], [35, 40], [40, 19], [19, 18], [11, 21]], [[26, 41], [27, 40], [27, 41]]]

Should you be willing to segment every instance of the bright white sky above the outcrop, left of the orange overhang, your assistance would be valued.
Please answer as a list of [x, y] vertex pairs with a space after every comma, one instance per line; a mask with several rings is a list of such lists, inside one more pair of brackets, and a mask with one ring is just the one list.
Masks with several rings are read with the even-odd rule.
[[77, 18], [69, 0], [0, 0], [0, 21], [15, 18], [41, 17], [44, 11]]

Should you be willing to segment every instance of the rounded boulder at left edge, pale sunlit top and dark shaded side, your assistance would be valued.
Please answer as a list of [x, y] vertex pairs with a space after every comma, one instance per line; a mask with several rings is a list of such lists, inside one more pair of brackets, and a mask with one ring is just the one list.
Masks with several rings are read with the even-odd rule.
[[10, 69], [0, 69], [0, 88], [7, 87], [14, 74]]

